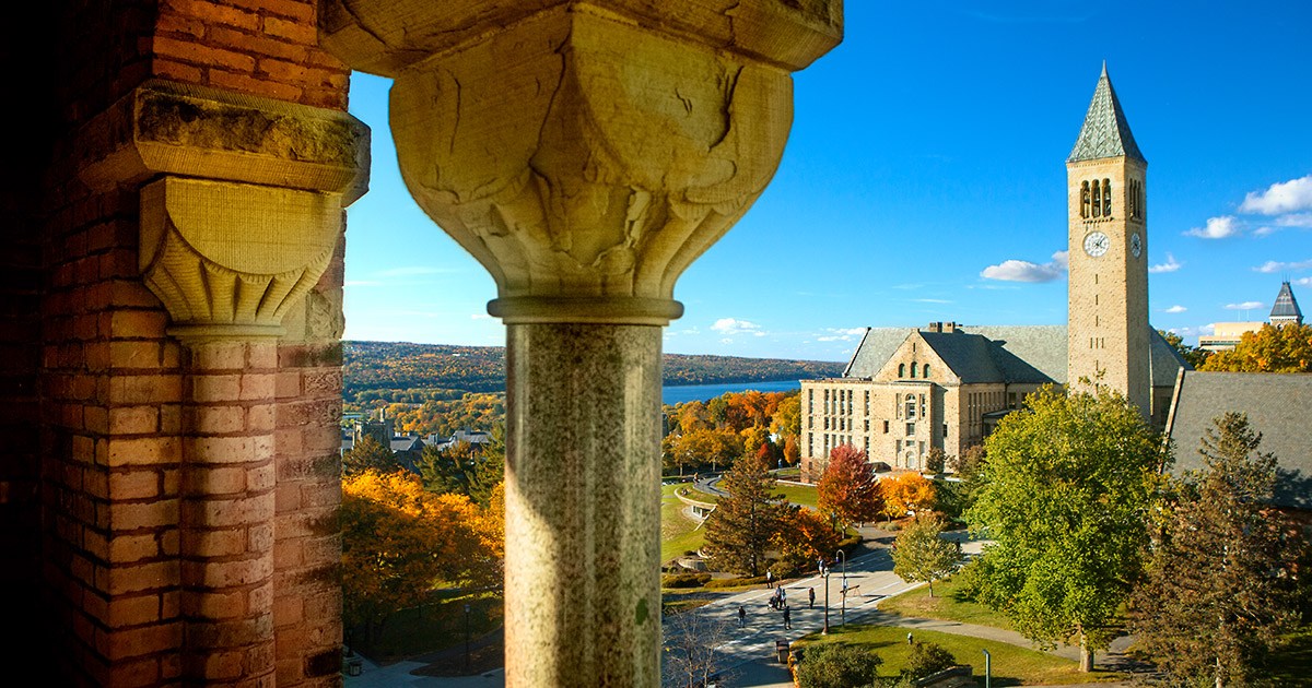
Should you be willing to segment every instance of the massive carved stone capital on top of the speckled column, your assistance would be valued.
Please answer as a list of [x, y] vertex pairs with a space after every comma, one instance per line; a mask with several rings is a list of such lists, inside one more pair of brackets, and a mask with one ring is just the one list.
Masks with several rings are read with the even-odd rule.
[[705, 25], [684, 1], [405, 7], [329, 3], [325, 45], [395, 76], [401, 176], [496, 279], [508, 324], [678, 317], [676, 279], [778, 166], [789, 71], [841, 34], [837, 0], [744, 1]]

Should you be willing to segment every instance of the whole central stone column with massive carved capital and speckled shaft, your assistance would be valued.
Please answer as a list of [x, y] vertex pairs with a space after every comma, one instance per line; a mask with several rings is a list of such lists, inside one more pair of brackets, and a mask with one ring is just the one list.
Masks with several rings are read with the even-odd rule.
[[773, 176], [841, 3], [320, 5], [395, 79], [420, 206], [506, 325], [506, 684], [660, 684], [660, 342], [674, 280]]

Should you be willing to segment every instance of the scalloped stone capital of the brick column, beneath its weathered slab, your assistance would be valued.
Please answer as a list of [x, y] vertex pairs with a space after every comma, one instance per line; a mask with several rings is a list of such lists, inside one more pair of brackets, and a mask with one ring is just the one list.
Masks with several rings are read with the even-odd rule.
[[341, 194], [165, 177], [140, 198], [142, 275], [184, 339], [281, 335], [341, 236]]

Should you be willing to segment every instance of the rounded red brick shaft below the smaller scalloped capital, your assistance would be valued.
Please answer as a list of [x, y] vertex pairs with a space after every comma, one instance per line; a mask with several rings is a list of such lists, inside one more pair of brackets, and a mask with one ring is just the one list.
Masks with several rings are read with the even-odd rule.
[[184, 672], [273, 685], [274, 338], [188, 339]]

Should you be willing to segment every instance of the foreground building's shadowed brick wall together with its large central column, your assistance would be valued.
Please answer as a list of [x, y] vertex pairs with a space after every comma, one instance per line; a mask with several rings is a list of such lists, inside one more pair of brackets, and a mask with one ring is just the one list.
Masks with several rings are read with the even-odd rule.
[[8, 654], [56, 685], [341, 683], [357, 68], [394, 79], [403, 176], [508, 324], [506, 683], [657, 685], [660, 497], [635, 486], [661, 328], [774, 174], [841, 1], [25, 12], [0, 29]]

